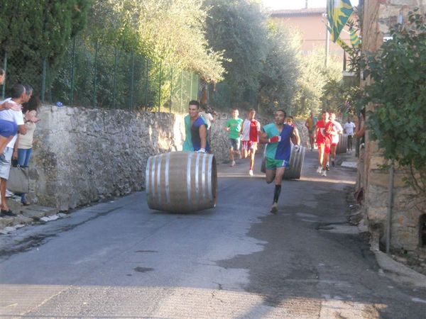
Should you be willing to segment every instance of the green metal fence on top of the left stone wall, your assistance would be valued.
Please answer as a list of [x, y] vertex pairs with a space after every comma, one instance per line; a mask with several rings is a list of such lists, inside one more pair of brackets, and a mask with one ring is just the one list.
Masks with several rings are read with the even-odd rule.
[[28, 64], [19, 52], [0, 57], [6, 70], [2, 90], [15, 83], [31, 84], [46, 103], [67, 106], [125, 108], [182, 113], [199, 99], [200, 77], [155, 62], [137, 52], [75, 38], [62, 59]]

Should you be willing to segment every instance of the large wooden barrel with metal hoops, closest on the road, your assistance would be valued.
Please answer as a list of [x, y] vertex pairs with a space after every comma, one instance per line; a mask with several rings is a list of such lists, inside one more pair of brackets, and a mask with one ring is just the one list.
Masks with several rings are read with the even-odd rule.
[[189, 213], [216, 206], [217, 167], [214, 155], [169, 152], [146, 163], [148, 206], [158, 211]]

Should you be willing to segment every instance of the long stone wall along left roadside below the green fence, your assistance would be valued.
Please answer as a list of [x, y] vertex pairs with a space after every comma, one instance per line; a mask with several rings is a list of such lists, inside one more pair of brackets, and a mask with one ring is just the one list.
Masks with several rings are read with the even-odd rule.
[[[172, 113], [42, 106], [39, 117], [28, 198], [61, 211], [143, 189], [148, 157], [182, 150], [185, 135]], [[228, 118], [212, 125], [218, 162], [229, 160]]]

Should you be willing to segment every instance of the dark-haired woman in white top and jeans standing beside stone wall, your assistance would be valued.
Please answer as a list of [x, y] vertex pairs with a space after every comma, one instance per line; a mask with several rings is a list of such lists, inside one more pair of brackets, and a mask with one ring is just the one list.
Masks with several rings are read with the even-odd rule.
[[[18, 135], [18, 141], [15, 145], [18, 145], [18, 149], [13, 150], [13, 157], [18, 156], [18, 165], [21, 167], [28, 167], [30, 162], [31, 152], [33, 151], [33, 136], [35, 131], [35, 123], [40, 121], [37, 118], [37, 110], [40, 106], [40, 99], [37, 96], [31, 96], [31, 99], [27, 103], [23, 103], [23, 120], [25, 122], [27, 133], [26, 135]], [[29, 205], [26, 200], [26, 194], [21, 194], [21, 203], [24, 206]]]

